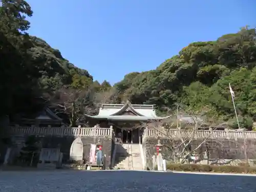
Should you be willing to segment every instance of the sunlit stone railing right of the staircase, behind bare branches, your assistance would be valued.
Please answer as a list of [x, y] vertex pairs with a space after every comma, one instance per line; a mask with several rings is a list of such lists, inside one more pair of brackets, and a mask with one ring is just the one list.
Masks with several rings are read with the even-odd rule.
[[[195, 134], [193, 136], [193, 134]], [[225, 131], [218, 130], [156, 130], [146, 128], [143, 134], [143, 137], [195, 137], [195, 138], [251, 138], [256, 139], [256, 132], [253, 131], [232, 131], [226, 129]]]

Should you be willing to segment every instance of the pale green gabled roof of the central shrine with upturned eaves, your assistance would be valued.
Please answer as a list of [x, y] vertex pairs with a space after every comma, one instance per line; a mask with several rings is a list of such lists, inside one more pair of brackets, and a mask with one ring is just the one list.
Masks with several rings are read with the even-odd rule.
[[[133, 115], [122, 115], [125, 112], [131, 112]], [[93, 119], [108, 120], [134, 120], [146, 121], [151, 119], [164, 119], [167, 117], [158, 117], [154, 105], [149, 104], [131, 104], [129, 100], [124, 104], [102, 104], [99, 114], [95, 116], [86, 115]], [[169, 116], [168, 116], [169, 117]]]

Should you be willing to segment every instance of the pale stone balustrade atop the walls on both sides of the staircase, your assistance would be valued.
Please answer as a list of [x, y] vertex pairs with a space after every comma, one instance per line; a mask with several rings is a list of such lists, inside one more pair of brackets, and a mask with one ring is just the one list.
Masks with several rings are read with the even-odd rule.
[[[53, 136], [110, 136], [114, 137], [113, 127], [33, 127], [33, 126], [13, 126], [9, 127], [13, 135], [53, 135]], [[194, 136], [193, 136], [194, 134]], [[146, 128], [143, 137], [195, 137], [195, 138], [256, 138], [256, 132], [253, 131], [218, 131], [209, 130], [157, 130]]]

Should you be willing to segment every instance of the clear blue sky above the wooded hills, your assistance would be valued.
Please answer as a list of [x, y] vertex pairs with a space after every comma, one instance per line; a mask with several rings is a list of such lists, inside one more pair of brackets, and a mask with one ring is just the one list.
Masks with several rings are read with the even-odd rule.
[[155, 69], [193, 41], [256, 27], [254, 0], [28, 0], [29, 33], [95, 80]]

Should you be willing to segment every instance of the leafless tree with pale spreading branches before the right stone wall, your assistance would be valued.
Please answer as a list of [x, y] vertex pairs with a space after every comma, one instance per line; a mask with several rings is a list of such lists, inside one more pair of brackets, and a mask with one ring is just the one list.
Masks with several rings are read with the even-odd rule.
[[[197, 132], [199, 130], [206, 129], [205, 124], [207, 124], [205, 113], [200, 116], [189, 113], [187, 113], [186, 116], [179, 115], [177, 107], [176, 115], [172, 115], [168, 119], [147, 122], [146, 125], [143, 126], [155, 130], [159, 134], [159, 137], [163, 137], [165, 139], [165, 142], [162, 144], [170, 153], [173, 154], [170, 158], [176, 162], [184, 163], [190, 156], [193, 156], [199, 148], [205, 145], [208, 140], [211, 140], [212, 134], [220, 126], [213, 126], [213, 124], [211, 124], [212, 132], [208, 132], [208, 134], [203, 135], [196, 147], [191, 147], [193, 142], [198, 140]], [[223, 126], [223, 123], [221, 123], [221, 126]], [[209, 126], [207, 129], [209, 129]]]

